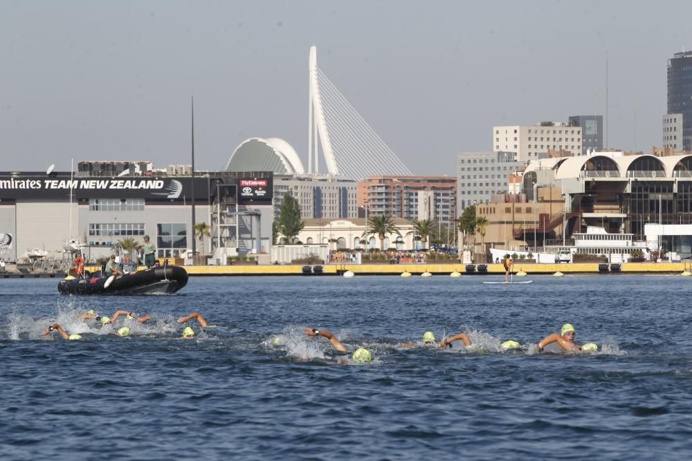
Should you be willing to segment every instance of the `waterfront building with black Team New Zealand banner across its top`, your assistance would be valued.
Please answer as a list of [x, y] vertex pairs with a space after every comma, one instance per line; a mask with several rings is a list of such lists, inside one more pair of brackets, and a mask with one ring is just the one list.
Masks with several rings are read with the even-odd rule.
[[268, 252], [271, 173], [217, 172], [193, 180], [162, 174], [151, 162], [80, 162], [73, 174], [0, 173], [0, 257], [15, 261], [41, 249], [57, 258], [66, 241], [75, 240], [86, 259], [95, 260], [122, 238], [141, 242], [145, 234], [156, 256], [181, 257], [194, 238], [192, 187], [197, 223], [211, 231], [197, 239], [198, 252], [202, 245], [207, 254], [219, 245], [234, 254]]

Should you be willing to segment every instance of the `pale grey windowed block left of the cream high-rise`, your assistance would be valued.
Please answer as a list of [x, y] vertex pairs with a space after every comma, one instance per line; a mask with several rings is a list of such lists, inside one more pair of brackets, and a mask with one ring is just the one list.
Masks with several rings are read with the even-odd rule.
[[509, 177], [522, 163], [513, 152], [462, 152], [457, 155], [459, 210], [490, 203], [495, 194], [509, 192]]

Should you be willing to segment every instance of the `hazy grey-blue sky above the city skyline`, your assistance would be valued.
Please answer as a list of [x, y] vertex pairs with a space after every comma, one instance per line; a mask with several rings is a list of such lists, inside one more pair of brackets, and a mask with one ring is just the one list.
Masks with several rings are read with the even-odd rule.
[[307, 167], [308, 53], [417, 174], [455, 176], [495, 124], [605, 115], [660, 146], [692, 2], [0, 0], [0, 171], [77, 160], [222, 169], [253, 136]]

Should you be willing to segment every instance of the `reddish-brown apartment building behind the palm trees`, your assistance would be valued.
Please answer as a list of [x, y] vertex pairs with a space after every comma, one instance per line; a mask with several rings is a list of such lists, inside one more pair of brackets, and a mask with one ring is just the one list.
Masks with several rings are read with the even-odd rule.
[[406, 220], [456, 219], [457, 179], [449, 176], [370, 176], [358, 182], [359, 216], [392, 216]]

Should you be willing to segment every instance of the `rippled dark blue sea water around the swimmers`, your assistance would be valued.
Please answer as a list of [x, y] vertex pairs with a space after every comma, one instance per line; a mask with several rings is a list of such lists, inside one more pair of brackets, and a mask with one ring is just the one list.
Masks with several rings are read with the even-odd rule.
[[[530, 278], [191, 278], [161, 297], [1, 279], [0, 458], [689, 458], [692, 281]], [[78, 319], [89, 309], [153, 318], [101, 328]], [[190, 321], [199, 335], [181, 340], [176, 319], [194, 311], [218, 327]], [[42, 336], [55, 321], [84, 339]], [[565, 322], [600, 351], [533, 353]], [[427, 330], [473, 346], [401, 348]]]

